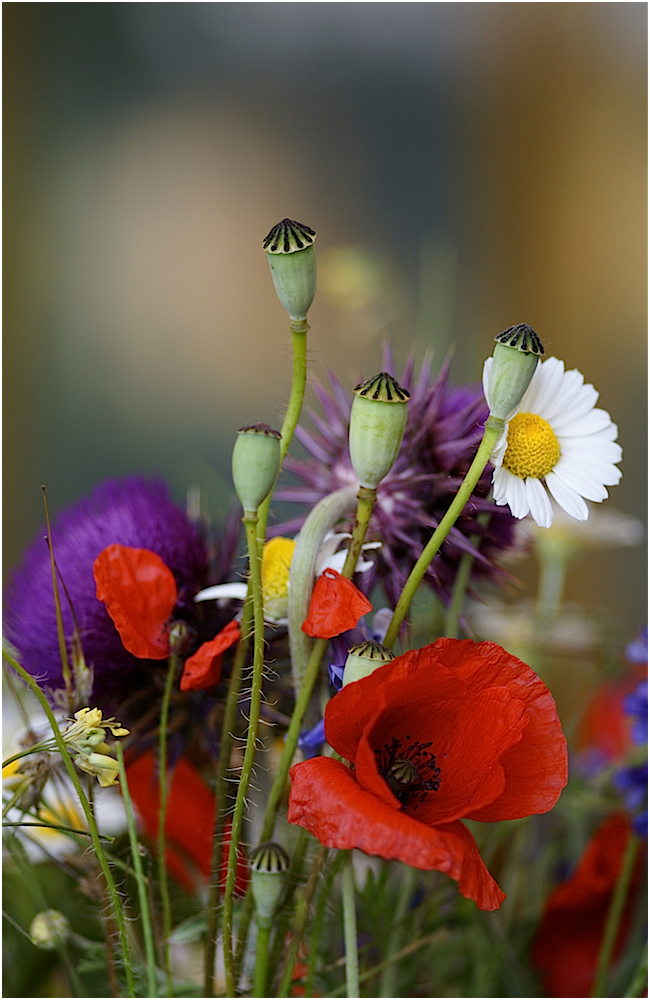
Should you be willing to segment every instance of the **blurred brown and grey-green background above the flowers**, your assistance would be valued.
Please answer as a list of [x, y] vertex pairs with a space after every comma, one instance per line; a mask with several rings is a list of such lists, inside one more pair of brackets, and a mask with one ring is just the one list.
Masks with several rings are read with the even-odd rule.
[[[457, 382], [525, 321], [645, 519], [645, 3], [4, 3], [4, 561], [101, 479], [230, 495], [291, 368], [261, 240], [318, 232], [312, 371]], [[525, 568], [524, 568], [525, 573]], [[646, 618], [644, 545], [571, 593]]]

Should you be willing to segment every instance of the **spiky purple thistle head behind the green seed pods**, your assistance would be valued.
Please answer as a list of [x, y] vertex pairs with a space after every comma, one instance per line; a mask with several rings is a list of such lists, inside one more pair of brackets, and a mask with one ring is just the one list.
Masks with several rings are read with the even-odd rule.
[[[384, 353], [384, 369], [393, 367], [390, 349]], [[449, 362], [437, 378], [430, 375], [431, 360], [425, 360], [417, 380], [413, 358], [407, 361], [400, 384], [411, 393], [408, 421], [400, 453], [392, 469], [379, 484], [377, 502], [368, 537], [382, 542], [377, 569], [364, 583], [371, 587], [378, 578], [391, 605], [432, 532], [463, 481], [482, 436], [488, 409], [481, 387], [452, 388], [448, 384]], [[351, 394], [329, 373], [330, 391], [316, 384], [314, 390], [323, 417], [310, 411], [315, 430], [296, 429], [296, 437], [309, 458], [289, 458], [285, 468], [299, 480], [295, 486], [277, 491], [278, 500], [313, 505], [342, 486], [356, 484], [348, 451]], [[425, 580], [445, 603], [453, 587], [458, 561], [464, 552], [474, 556], [472, 580], [503, 576], [497, 562], [513, 549], [516, 522], [509, 510], [488, 499], [491, 470], [485, 470], [465, 511], [450, 531]], [[487, 524], [478, 516], [489, 514]], [[296, 518], [274, 529], [274, 533], [297, 531], [304, 518]], [[478, 538], [478, 544], [472, 542]], [[364, 589], [365, 586], [364, 586]]]

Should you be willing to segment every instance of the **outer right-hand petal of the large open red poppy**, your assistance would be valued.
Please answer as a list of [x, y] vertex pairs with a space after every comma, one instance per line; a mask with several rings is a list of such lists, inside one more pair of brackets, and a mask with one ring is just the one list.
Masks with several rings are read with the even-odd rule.
[[528, 725], [519, 743], [501, 757], [506, 787], [498, 799], [468, 819], [496, 822], [552, 809], [568, 780], [567, 745], [555, 701], [529, 666], [493, 642], [438, 639], [438, 659], [457, 671], [468, 690], [503, 684], [526, 706]]

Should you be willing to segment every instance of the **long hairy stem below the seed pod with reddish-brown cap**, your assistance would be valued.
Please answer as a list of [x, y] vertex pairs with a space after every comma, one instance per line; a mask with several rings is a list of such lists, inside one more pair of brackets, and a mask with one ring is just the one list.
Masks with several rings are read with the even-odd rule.
[[235, 799], [235, 809], [232, 817], [230, 845], [228, 849], [226, 888], [223, 898], [222, 927], [224, 966], [226, 974], [226, 995], [231, 997], [235, 995], [235, 961], [232, 948], [232, 919], [235, 878], [237, 875], [237, 852], [239, 842], [241, 840], [246, 795], [248, 793], [248, 786], [255, 760], [255, 742], [257, 739], [257, 727], [260, 717], [262, 674], [264, 668], [264, 603], [262, 598], [261, 560], [259, 546], [257, 543], [258, 524], [257, 514], [255, 512], [246, 511], [244, 513], [244, 526], [246, 528], [246, 540], [248, 542], [248, 561], [250, 567], [250, 586], [253, 591], [253, 619], [255, 623], [255, 631], [253, 641], [253, 683], [251, 688], [248, 733], [246, 736], [244, 762], [242, 765], [239, 786], [237, 788], [237, 798]]

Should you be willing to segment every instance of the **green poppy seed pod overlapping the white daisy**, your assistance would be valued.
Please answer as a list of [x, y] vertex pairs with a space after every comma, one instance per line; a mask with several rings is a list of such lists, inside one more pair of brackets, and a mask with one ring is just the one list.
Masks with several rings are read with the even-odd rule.
[[521, 402], [544, 348], [526, 323], [510, 326], [494, 339], [497, 346], [488, 385], [490, 415], [505, 420]]

